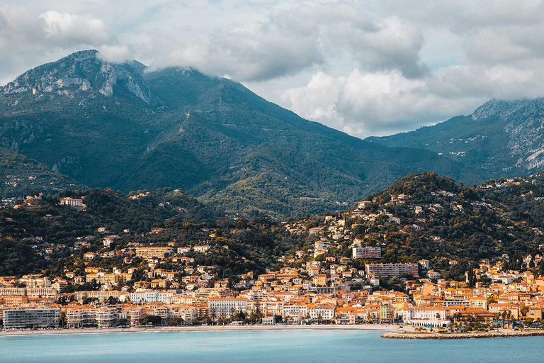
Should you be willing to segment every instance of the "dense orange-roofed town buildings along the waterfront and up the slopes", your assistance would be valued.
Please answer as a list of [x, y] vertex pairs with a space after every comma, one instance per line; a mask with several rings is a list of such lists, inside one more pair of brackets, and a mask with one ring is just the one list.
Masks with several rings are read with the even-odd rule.
[[[482, 188], [516, 183], [531, 181], [512, 179]], [[143, 237], [100, 227], [69, 247], [35, 236], [34, 253], [55, 259], [58, 250], [69, 249], [69, 263], [62, 264], [62, 271], [0, 277], [2, 325], [4, 330], [317, 324], [397, 324], [436, 332], [540, 330], [544, 276], [535, 274], [543, 262], [539, 253], [472, 261], [460, 279], [442, 276], [466, 264], [456, 259], [447, 259], [446, 269], [443, 259], [440, 269], [433, 266], [436, 259], [384, 262], [386, 228], [419, 233], [441, 208], [467, 208], [451, 191], [429, 194], [441, 203], [412, 206], [414, 196], [390, 193], [387, 206], [407, 207], [411, 218], [377, 210], [382, 202], [375, 197], [346, 213], [323, 216], [314, 227], [305, 220], [282, 223], [284, 233], [312, 242], [278, 257], [277, 269], [229, 278], [220, 278], [217, 265], [201, 262], [227, 255], [226, 235], [241, 227], [200, 228], [193, 231], [198, 238], [185, 240], [168, 240], [166, 227], [150, 228]], [[40, 199], [28, 196], [10, 208], [35, 208]], [[87, 213], [84, 197], [64, 197], [58, 204]], [[472, 207], [494, 208], [481, 202]], [[514, 231], [514, 222], [504, 218]], [[357, 233], [363, 223], [366, 233]], [[370, 225], [379, 233], [371, 235]], [[537, 248], [542, 247], [538, 238], [533, 240]]]

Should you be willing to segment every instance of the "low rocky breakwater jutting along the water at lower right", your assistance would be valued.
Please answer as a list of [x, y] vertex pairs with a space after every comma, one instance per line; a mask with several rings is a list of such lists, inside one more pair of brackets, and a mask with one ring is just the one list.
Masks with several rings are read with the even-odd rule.
[[487, 333], [401, 333], [389, 332], [381, 337], [385, 339], [489, 339], [499, 337], [538, 337], [543, 336], [544, 330], [524, 330], [521, 332], [499, 331]]

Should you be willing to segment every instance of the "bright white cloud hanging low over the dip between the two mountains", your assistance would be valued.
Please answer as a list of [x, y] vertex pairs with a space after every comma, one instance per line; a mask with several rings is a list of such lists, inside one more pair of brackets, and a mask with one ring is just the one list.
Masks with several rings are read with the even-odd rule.
[[286, 90], [283, 102], [302, 117], [351, 135], [387, 135], [443, 121], [460, 111], [469, 113], [487, 101], [485, 95], [459, 89], [461, 85], [453, 82], [455, 69], [446, 73], [425, 79], [360, 69], [347, 77], [316, 74], [306, 86]]

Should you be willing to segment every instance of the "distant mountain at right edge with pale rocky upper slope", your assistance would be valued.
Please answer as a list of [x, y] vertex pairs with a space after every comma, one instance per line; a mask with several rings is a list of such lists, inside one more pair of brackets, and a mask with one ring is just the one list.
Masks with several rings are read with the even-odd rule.
[[544, 164], [544, 99], [492, 99], [469, 116], [366, 140], [438, 152], [486, 179], [531, 174]]

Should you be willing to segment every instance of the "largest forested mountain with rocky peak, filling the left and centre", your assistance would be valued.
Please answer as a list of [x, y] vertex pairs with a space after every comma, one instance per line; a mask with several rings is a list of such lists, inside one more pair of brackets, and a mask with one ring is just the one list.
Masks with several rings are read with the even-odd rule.
[[0, 146], [90, 187], [171, 186], [229, 213], [336, 210], [409, 172], [480, 180], [436, 152], [304, 120], [229, 79], [95, 50], [0, 88]]

